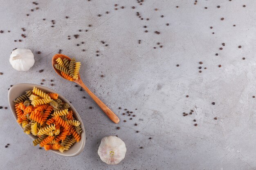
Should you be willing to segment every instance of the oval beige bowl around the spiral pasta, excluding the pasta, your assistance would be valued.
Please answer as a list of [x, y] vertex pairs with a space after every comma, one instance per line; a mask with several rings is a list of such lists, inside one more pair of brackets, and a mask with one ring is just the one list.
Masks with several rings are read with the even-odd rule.
[[[58, 93], [58, 92], [56, 92], [56, 91], [54, 91], [50, 88], [47, 88], [45, 86], [40, 86], [40, 85], [37, 85], [37, 84], [22, 83], [22, 84], [16, 84], [16, 85], [12, 86], [9, 90], [9, 93], [8, 93], [8, 101], [9, 101], [9, 105], [10, 105], [13, 117], [16, 120], [17, 120], [17, 116], [16, 116], [16, 112], [15, 112], [15, 108], [14, 108], [15, 104], [14, 104], [13, 100], [15, 100], [20, 95], [24, 94], [25, 91], [32, 90], [34, 86], [36, 88], [39, 88], [40, 90], [46, 92], [46, 93]], [[58, 97], [63, 102], [68, 103], [71, 106], [70, 109], [73, 111], [74, 117], [76, 117], [76, 119], [81, 122], [80, 126], [83, 129], [83, 132], [81, 133], [81, 141], [75, 143], [69, 150], [65, 150], [63, 153], [61, 153], [59, 150], [51, 150], [51, 151], [58, 154], [58, 155], [62, 155], [62, 156], [65, 156], [65, 157], [74, 157], [76, 155], [79, 155], [85, 147], [85, 128], [83, 126], [83, 121], [82, 121], [81, 117], [77, 113], [76, 109], [72, 106], [72, 104], [70, 104], [70, 102], [67, 99], [65, 99], [65, 97], [60, 95], [60, 93], [58, 93]], [[21, 124], [18, 124], [18, 125], [22, 129], [22, 130], [20, 130], [20, 133], [24, 133]], [[36, 136], [34, 136], [34, 135], [30, 134], [28, 136], [33, 140], [36, 139]], [[31, 147], [33, 147], [32, 140], [31, 140]], [[48, 151], [45, 151], [45, 152], [48, 152]]]

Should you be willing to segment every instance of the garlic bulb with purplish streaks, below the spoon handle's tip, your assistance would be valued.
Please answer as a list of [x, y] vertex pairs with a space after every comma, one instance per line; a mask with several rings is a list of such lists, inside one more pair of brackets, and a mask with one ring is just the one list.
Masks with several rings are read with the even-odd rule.
[[126, 146], [124, 141], [116, 136], [103, 137], [99, 146], [98, 155], [101, 161], [115, 165], [124, 159]]

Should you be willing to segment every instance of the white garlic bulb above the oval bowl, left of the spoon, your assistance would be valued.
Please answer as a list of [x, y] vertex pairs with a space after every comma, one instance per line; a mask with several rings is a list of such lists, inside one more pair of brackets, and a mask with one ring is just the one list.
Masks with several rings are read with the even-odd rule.
[[34, 63], [34, 54], [29, 49], [16, 49], [11, 52], [9, 62], [18, 71], [28, 71]]

